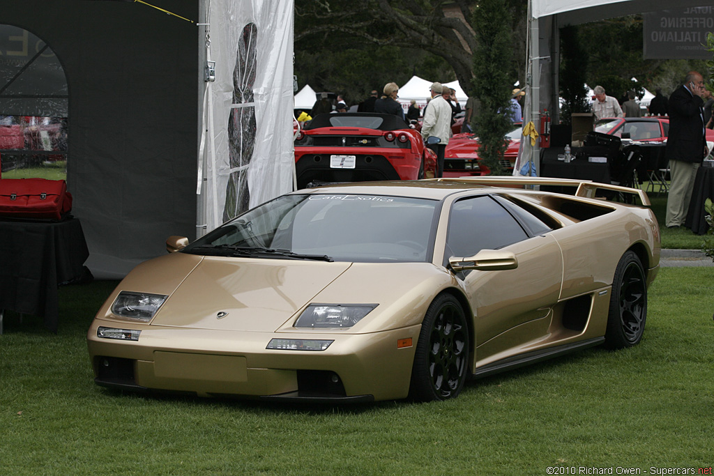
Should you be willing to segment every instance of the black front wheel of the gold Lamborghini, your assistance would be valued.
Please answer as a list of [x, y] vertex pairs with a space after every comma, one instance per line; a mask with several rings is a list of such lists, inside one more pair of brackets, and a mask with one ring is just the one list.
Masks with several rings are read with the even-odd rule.
[[451, 294], [426, 311], [414, 354], [409, 396], [418, 402], [455, 398], [466, 382], [469, 333], [463, 308]]

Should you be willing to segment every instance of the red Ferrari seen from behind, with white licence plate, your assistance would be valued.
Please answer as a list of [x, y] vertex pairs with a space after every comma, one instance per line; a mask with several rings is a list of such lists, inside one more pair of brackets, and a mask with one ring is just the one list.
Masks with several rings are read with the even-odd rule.
[[436, 154], [397, 116], [319, 114], [295, 139], [298, 188], [323, 183], [416, 180], [433, 172]]

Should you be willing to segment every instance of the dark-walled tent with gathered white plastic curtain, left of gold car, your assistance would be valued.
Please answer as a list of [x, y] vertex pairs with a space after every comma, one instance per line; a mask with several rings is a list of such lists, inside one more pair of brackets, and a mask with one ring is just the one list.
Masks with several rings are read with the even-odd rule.
[[[0, 40], [0, 83], [22, 59], [7, 51], [41, 52], [32, 67], [56, 55], [47, 69], [66, 77], [66, 91], [48, 81], [35, 96], [66, 96], [72, 214], [98, 278], [165, 254], [168, 236], [214, 228], [238, 198], [292, 188], [292, 0], [158, 3], [191, 21], [129, 1], [0, 0], [0, 24], [28, 32]], [[31, 85], [6, 93], [24, 101], [20, 86]]]

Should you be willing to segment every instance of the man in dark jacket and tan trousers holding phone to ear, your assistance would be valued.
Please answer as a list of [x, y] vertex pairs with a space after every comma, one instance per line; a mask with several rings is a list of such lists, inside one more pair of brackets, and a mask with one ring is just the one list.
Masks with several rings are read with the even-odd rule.
[[697, 169], [708, 153], [704, 140], [703, 89], [702, 75], [690, 71], [684, 84], [669, 98], [670, 129], [665, 156], [669, 159], [672, 181], [667, 197], [667, 228], [684, 224]]

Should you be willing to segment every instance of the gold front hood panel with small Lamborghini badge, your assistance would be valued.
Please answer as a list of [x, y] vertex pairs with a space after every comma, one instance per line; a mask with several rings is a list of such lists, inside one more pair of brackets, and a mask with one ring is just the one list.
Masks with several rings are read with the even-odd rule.
[[350, 265], [206, 257], [161, 306], [151, 325], [273, 332]]

